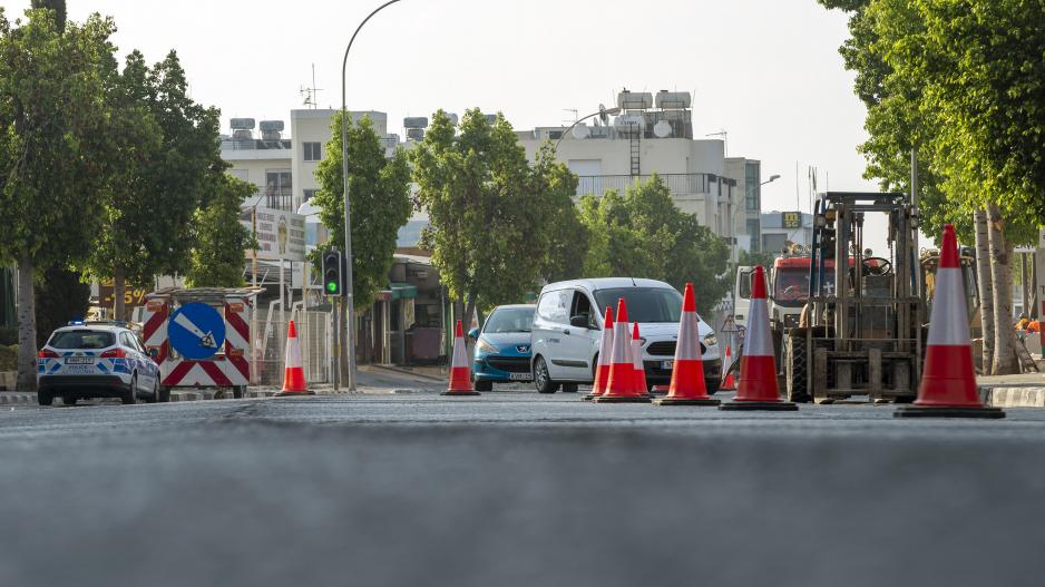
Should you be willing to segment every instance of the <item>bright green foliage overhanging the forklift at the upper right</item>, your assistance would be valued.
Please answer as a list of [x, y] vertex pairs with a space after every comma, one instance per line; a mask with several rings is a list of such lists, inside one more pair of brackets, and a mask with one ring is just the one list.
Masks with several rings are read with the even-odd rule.
[[1006, 237], [1034, 239], [1045, 214], [1045, 4], [1020, 0], [822, 0], [852, 12], [841, 52], [857, 71], [867, 175], [907, 185], [918, 148], [924, 227], [1002, 207]]

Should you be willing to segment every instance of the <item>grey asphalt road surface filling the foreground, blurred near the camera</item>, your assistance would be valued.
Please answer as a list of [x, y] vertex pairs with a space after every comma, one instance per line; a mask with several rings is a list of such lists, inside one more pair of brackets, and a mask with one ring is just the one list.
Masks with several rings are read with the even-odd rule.
[[0, 585], [1041, 585], [1045, 411], [432, 393], [0, 411]]

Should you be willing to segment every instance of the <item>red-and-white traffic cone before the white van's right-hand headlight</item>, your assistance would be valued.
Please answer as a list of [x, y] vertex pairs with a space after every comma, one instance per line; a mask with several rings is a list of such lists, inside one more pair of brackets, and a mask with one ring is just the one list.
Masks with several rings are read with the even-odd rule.
[[682, 320], [678, 322], [678, 343], [675, 345], [675, 360], [672, 363], [672, 384], [667, 389], [667, 395], [654, 400], [653, 403], [657, 405], [719, 405], [721, 403], [707, 395], [697, 324], [693, 284], [687, 283], [682, 296]]

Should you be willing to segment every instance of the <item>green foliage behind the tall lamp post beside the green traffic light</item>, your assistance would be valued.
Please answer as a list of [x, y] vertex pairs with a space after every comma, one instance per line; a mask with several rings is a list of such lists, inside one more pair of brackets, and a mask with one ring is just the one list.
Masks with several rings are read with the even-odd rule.
[[[325, 246], [344, 250], [344, 176], [341, 160], [341, 119], [331, 123], [326, 155], [315, 170], [320, 190], [313, 202], [330, 231]], [[410, 218], [410, 167], [397, 150], [391, 159], [378, 140], [373, 123], [349, 120], [349, 203], [352, 213], [352, 284], [359, 312], [373, 304], [378, 290], [388, 286], [395, 236]], [[321, 247], [324, 248], [324, 247]]]

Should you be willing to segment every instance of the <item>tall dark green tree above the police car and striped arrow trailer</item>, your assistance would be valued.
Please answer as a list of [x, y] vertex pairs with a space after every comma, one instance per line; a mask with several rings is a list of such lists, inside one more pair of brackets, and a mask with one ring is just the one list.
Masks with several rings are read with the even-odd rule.
[[221, 159], [219, 112], [188, 97], [175, 51], [152, 68], [131, 52], [108, 96], [117, 163], [107, 178], [107, 222], [86, 268], [113, 280], [116, 315], [125, 316], [128, 281], [147, 285], [189, 270], [194, 216], [221, 193], [228, 165]]

